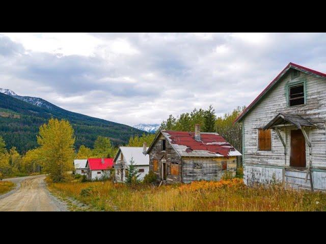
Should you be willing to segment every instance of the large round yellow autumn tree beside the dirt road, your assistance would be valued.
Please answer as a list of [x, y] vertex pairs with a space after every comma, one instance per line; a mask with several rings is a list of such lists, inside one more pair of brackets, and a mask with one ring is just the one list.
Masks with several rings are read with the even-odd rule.
[[62, 181], [73, 169], [74, 131], [67, 120], [51, 118], [40, 127], [37, 142], [43, 171], [49, 173], [54, 182]]

